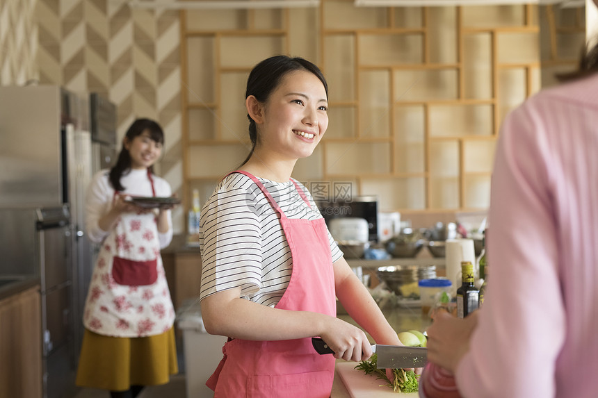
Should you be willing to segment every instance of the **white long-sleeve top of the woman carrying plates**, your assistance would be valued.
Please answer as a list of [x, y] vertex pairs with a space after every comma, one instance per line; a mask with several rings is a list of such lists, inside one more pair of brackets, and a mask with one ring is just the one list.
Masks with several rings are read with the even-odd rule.
[[[110, 231], [104, 231], [98, 225], [98, 221], [112, 208], [114, 199], [114, 188], [108, 181], [108, 169], [97, 172], [87, 189], [86, 197], [86, 232], [92, 242], [102, 242]], [[172, 190], [165, 179], [152, 175], [156, 197], [170, 197]], [[131, 169], [120, 178], [124, 191], [122, 194], [132, 196], [151, 197], [152, 185], [147, 178], [147, 171], [144, 169]], [[158, 233], [160, 249], [167, 247], [172, 241], [172, 215], [168, 212], [168, 232]]]

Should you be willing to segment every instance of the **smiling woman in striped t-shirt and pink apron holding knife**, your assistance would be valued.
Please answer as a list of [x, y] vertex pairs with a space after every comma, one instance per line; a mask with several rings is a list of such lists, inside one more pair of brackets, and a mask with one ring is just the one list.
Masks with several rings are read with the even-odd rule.
[[[291, 179], [328, 128], [328, 85], [309, 61], [275, 56], [252, 69], [245, 107], [252, 151], [200, 222], [202, 320], [229, 337], [207, 385], [217, 397], [330, 397], [334, 357], [371, 356], [364, 331], [336, 317], [335, 295], [376, 342], [401, 342]], [[314, 336], [334, 357], [316, 353]]]

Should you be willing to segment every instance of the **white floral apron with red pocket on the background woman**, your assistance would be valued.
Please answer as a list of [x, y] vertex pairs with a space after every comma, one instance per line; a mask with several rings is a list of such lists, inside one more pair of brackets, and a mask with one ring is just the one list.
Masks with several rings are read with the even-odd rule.
[[[154, 192], [149, 171], [147, 177]], [[172, 328], [174, 320], [156, 215], [123, 213], [102, 242], [83, 324], [101, 335], [137, 338], [164, 333]]]

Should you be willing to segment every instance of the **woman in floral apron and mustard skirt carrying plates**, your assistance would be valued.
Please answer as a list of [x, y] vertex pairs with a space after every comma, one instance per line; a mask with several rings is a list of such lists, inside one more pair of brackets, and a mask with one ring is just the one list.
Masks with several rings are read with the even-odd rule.
[[175, 310], [160, 256], [172, 240], [170, 207], [127, 201], [170, 197], [170, 185], [153, 173], [163, 142], [159, 124], [137, 119], [116, 165], [98, 172], [88, 188], [86, 230], [101, 249], [83, 313], [76, 384], [110, 390], [113, 398], [136, 397], [178, 372]]

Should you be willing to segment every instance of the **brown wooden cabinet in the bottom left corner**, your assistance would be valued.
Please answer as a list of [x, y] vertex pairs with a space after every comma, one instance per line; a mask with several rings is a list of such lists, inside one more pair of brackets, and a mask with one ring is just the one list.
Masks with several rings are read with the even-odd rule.
[[0, 397], [42, 396], [40, 288], [0, 301]]

